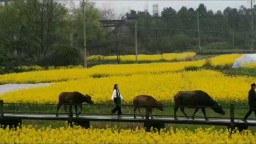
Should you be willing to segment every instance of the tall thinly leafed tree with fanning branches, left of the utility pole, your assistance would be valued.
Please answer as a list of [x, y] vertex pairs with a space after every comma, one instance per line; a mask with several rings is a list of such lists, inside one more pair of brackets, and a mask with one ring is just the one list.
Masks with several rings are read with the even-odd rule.
[[20, 11], [24, 31], [46, 59], [52, 44], [56, 42], [58, 26], [67, 14], [67, 8], [53, 0], [17, 1], [15, 6]]

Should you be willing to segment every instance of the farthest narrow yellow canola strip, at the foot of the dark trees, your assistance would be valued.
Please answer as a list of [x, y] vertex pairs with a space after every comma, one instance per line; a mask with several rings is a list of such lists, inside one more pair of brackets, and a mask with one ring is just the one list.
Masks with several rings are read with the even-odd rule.
[[[184, 53], [168, 53], [168, 54], [138, 54], [138, 61], [160, 61], [160, 60], [182, 60], [188, 57], [195, 56], [195, 52], [184, 52]], [[121, 55], [121, 61], [136, 61], [135, 55]], [[103, 61], [103, 60], [116, 60], [116, 56], [102, 56], [102, 55], [93, 55], [88, 57], [88, 61]]]

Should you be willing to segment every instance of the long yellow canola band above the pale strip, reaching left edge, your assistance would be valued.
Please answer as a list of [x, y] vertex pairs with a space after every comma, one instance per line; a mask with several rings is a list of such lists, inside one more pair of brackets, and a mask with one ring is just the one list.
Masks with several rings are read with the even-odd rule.
[[92, 68], [73, 68], [60, 70], [46, 70], [0, 75], [0, 84], [8, 83], [42, 83], [78, 80], [90, 77], [130, 75], [146, 73], [163, 73], [184, 70], [185, 67], [200, 67], [204, 60], [194, 62], [161, 62], [150, 64], [114, 64], [98, 65]]

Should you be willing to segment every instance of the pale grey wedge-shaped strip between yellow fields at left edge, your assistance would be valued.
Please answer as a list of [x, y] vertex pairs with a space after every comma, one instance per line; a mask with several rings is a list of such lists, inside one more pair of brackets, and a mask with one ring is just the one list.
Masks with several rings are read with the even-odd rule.
[[39, 84], [3, 84], [0, 85], [0, 94], [3, 94], [5, 92], [10, 92], [13, 90], [20, 90], [20, 89], [26, 89], [26, 88], [34, 88], [34, 87], [40, 87], [40, 86], [48, 86], [51, 83], [39, 83]]

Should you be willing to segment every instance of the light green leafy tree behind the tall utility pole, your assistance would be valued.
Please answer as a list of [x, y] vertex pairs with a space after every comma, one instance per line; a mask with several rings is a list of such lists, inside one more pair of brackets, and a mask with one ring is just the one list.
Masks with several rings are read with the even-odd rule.
[[[78, 8], [72, 9], [70, 12], [70, 21], [74, 33], [74, 46], [82, 50], [83, 47], [83, 22], [82, 22], [82, 3]], [[86, 2], [85, 5], [86, 17], [86, 49], [87, 51], [100, 48], [101, 42], [105, 37], [105, 30], [102, 28], [100, 11], [94, 7], [94, 3]]]

